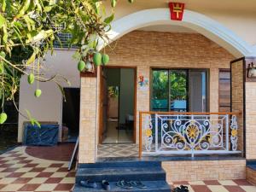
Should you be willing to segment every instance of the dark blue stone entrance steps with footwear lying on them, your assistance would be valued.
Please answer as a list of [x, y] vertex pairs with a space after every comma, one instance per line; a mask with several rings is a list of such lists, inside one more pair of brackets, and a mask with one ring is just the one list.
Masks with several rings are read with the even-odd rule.
[[[79, 183], [81, 180], [95, 181], [97, 189], [88, 189], [82, 187]], [[116, 186], [116, 182], [125, 179], [125, 181], [142, 181], [146, 189], [121, 189]], [[108, 180], [111, 185], [111, 191], [115, 192], [170, 192], [170, 186], [166, 183], [166, 172], [161, 167], [160, 161], [109, 161], [97, 162], [95, 164], [79, 165], [76, 174], [76, 184], [74, 192], [101, 192], [102, 180]]]

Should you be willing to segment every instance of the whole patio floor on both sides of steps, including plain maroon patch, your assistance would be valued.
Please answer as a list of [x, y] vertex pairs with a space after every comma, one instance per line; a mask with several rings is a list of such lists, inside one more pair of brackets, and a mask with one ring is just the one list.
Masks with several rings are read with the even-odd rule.
[[[67, 172], [73, 146], [18, 147], [0, 155], [0, 191], [67, 192], [73, 189], [75, 172]], [[121, 153], [122, 154], [122, 153]], [[40, 157], [40, 158], [38, 158]], [[48, 160], [46, 160], [48, 159]], [[197, 181], [184, 184], [189, 192], [256, 192], [246, 180]]]

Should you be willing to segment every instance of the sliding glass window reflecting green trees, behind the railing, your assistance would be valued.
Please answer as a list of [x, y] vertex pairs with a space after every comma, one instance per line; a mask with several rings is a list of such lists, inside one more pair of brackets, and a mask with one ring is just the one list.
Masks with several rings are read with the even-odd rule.
[[151, 110], [207, 111], [207, 70], [153, 69]]

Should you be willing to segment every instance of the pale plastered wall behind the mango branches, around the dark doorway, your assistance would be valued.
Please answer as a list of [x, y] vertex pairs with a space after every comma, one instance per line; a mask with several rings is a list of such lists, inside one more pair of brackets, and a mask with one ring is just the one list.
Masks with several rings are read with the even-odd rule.
[[[77, 70], [77, 61], [72, 58], [74, 51], [65, 49], [56, 49], [54, 55], [46, 55], [45, 66], [50, 75], [58, 73], [71, 82], [68, 86], [65, 81], [64, 87], [80, 87], [79, 71]], [[62, 95], [55, 83], [39, 83], [42, 90], [42, 96], [36, 98], [34, 90], [37, 89], [36, 82], [28, 84], [26, 76], [20, 80], [20, 112], [26, 114], [26, 110], [32, 113], [32, 117], [38, 121], [57, 121], [61, 125], [62, 121]], [[19, 115], [18, 142], [22, 142], [23, 122], [26, 121]], [[60, 132], [61, 134], [61, 132]], [[61, 135], [60, 135], [61, 136]]]

